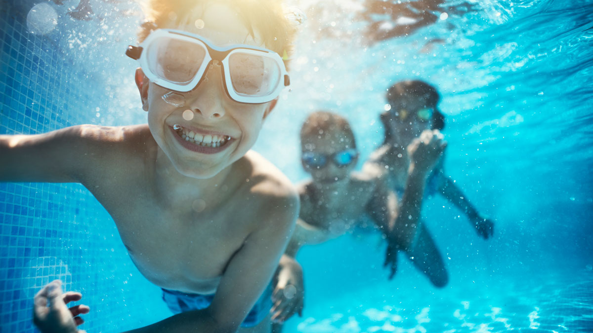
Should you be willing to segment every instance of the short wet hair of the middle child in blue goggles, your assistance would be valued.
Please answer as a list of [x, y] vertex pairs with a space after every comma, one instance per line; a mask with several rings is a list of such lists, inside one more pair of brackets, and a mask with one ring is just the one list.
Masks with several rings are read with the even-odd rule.
[[343, 132], [345, 137], [352, 141], [352, 147], [350, 148], [356, 148], [356, 141], [350, 123], [346, 118], [329, 111], [316, 111], [307, 117], [301, 127], [301, 142], [307, 137], [319, 137], [333, 130]]

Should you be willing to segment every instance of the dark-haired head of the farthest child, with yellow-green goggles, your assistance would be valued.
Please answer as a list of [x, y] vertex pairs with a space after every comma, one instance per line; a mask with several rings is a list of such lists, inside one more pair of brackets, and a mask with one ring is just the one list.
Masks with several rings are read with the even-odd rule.
[[397, 82], [387, 90], [387, 102], [390, 110], [381, 114], [385, 127], [385, 142], [394, 139], [394, 135], [406, 142], [419, 136], [423, 130], [445, 127], [445, 117], [437, 105], [441, 96], [435, 87], [426, 82], [409, 80]]

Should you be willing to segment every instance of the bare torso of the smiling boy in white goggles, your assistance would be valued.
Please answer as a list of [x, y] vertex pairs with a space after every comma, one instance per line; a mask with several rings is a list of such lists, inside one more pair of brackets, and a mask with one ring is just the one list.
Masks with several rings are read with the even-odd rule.
[[116, 162], [83, 184], [113, 217], [130, 257], [148, 280], [165, 289], [213, 293], [229, 260], [257, 228], [245, 201], [265, 200], [253, 188], [268, 166], [257, 167], [250, 158], [254, 153], [248, 153], [235, 162], [244, 164], [240, 172], [246, 174], [238, 175], [243, 181], [222, 186], [216, 198], [159, 193], [153, 179], [158, 146], [147, 127], [136, 130], [132, 140], [138, 139], [138, 149], [127, 151], [125, 163]]

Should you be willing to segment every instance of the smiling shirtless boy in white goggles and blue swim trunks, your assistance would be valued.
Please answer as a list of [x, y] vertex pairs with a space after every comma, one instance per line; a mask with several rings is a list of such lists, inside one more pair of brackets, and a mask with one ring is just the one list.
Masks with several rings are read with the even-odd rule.
[[[268, 332], [270, 281], [299, 197], [251, 148], [288, 84], [278, 55], [291, 52], [294, 26], [278, 0], [144, 3], [154, 26], [142, 25], [142, 52], [130, 54], [141, 60], [146, 123], [0, 135], [0, 181], [79, 182], [94, 194], [171, 310], [133, 332]], [[36, 325], [76, 332], [79, 318], [44, 315], [58, 304], [49, 298], [52, 308], [37, 303]], [[78, 313], [65, 303], [60, 313]]]

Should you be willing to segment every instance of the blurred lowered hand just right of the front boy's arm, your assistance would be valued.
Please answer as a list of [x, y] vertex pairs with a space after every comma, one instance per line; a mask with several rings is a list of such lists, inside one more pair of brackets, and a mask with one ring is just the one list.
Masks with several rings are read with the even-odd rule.
[[302, 317], [304, 283], [302, 267], [294, 259], [287, 260], [284, 255], [280, 261], [280, 268], [276, 278], [276, 288], [272, 294], [272, 321], [283, 323], [291, 318], [295, 312]]

